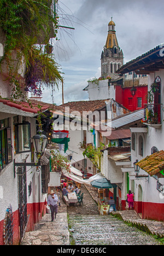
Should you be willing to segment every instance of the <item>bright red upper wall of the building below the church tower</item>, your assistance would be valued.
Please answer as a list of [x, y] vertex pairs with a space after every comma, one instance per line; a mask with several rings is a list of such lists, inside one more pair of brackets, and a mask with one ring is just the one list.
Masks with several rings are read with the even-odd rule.
[[146, 96], [148, 94], [148, 86], [140, 86], [136, 87], [136, 95], [134, 97], [131, 94], [132, 87], [121, 88], [121, 86], [115, 86], [115, 101], [120, 103], [122, 106], [127, 109], [134, 111], [138, 108], [138, 100], [137, 98], [142, 98], [142, 108], [144, 108], [144, 104], [147, 104]]

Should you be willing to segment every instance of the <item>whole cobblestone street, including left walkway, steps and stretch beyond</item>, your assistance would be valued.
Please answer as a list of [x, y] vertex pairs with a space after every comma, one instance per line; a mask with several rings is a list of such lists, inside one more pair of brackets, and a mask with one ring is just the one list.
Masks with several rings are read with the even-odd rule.
[[159, 245], [153, 236], [114, 216], [100, 216], [89, 191], [81, 186], [81, 192], [84, 205], [66, 207], [61, 200], [56, 222], [46, 214], [21, 245]]

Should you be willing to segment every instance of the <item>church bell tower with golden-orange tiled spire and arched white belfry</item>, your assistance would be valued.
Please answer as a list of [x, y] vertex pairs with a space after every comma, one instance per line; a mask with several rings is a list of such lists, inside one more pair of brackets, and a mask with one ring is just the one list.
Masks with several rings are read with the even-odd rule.
[[101, 77], [112, 79], [119, 78], [116, 71], [124, 63], [124, 55], [116, 38], [115, 23], [111, 18], [108, 25], [108, 37], [101, 54]]

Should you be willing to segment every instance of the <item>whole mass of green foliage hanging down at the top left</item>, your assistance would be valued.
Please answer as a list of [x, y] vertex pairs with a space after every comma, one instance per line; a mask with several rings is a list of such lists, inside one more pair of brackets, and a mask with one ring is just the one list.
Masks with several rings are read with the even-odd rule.
[[[55, 0], [57, 2], [57, 0]], [[52, 30], [57, 34], [58, 18], [52, 17], [52, 0], [1, 0], [0, 24], [5, 37], [4, 56], [0, 65], [7, 63], [8, 79], [13, 86], [13, 95], [21, 94], [19, 69], [26, 63], [27, 77], [36, 62], [39, 62], [39, 72], [36, 74], [36, 85], [54, 87], [62, 80], [58, 65], [52, 57], [44, 53], [41, 44], [48, 44]], [[40, 49], [36, 45], [40, 44]], [[38, 75], [38, 77], [37, 77]], [[40, 82], [42, 84], [40, 85]], [[26, 89], [29, 84], [26, 84]], [[29, 91], [29, 90], [28, 90]]]

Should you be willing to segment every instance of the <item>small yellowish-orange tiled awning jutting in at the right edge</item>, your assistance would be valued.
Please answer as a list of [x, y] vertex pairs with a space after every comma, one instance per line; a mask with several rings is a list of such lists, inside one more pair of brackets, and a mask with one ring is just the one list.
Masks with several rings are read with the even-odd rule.
[[150, 176], [161, 172], [164, 169], [164, 150], [147, 156], [136, 165], [142, 168], [145, 172], [148, 172]]

